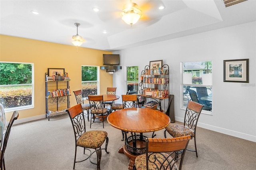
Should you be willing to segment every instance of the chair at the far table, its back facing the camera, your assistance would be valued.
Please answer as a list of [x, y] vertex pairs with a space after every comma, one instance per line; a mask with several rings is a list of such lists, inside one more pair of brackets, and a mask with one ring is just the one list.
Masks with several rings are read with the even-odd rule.
[[[90, 103], [90, 111], [91, 111], [90, 128], [92, 124], [95, 122], [102, 122], [103, 128], [104, 128], [104, 119], [108, 117], [109, 110], [104, 107], [103, 95], [88, 95], [88, 100]], [[99, 118], [98, 121], [95, 120], [96, 117]]]

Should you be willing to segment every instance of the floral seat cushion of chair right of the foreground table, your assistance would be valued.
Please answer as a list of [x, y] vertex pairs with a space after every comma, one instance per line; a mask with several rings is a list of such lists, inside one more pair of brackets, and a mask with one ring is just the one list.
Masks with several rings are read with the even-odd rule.
[[192, 135], [194, 137], [194, 132], [190, 128], [183, 125], [169, 124], [168, 127], [166, 127], [165, 129], [174, 138], [179, 136], [186, 136], [186, 135]]

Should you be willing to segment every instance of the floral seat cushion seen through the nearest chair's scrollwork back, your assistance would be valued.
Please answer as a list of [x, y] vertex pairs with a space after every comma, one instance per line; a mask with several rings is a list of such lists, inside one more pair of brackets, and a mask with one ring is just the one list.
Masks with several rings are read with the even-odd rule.
[[[162, 153], [164, 154], [166, 157], [169, 156], [168, 154], [166, 153]], [[154, 163], [151, 163], [150, 161], [154, 161], [154, 158], [153, 156], [156, 156], [156, 158], [158, 160], [160, 160], [160, 162], [164, 162], [164, 168], [161, 168], [164, 169], [164, 170], [170, 170], [170, 167], [168, 167], [168, 162], [167, 161], [164, 161], [165, 158], [164, 156], [162, 156], [161, 154], [158, 154], [158, 153], [155, 153], [155, 154], [152, 154], [150, 157], [149, 157], [149, 161], [148, 161], [148, 170], [158, 170], [158, 168], [160, 168], [161, 164], [159, 162], [155, 162], [157, 164], [157, 166], [154, 164]], [[172, 157], [169, 157], [168, 158], [168, 161], [172, 161]], [[136, 157], [135, 159], [135, 162], [134, 162], [134, 166], [136, 167], [136, 170], [146, 170], [147, 169], [147, 165], [146, 165], [146, 154], [141, 154], [139, 156]], [[177, 167], [176, 164], [174, 164], [172, 170], [178, 170], [179, 168]]]

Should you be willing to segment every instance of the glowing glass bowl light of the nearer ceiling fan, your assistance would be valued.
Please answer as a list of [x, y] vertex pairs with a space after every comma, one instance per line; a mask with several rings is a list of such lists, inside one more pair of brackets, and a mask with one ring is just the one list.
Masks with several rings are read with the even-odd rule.
[[128, 3], [121, 12], [122, 20], [129, 25], [133, 25], [140, 19], [141, 11], [135, 3]]

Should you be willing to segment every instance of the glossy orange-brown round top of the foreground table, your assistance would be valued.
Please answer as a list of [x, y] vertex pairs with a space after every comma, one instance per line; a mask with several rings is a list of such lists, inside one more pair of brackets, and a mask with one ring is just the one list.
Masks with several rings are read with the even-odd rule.
[[154, 132], [166, 128], [170, 118], [160, 112], [147, 108], [121, 109], [108, 115], [108, 123], [128, 132]]

